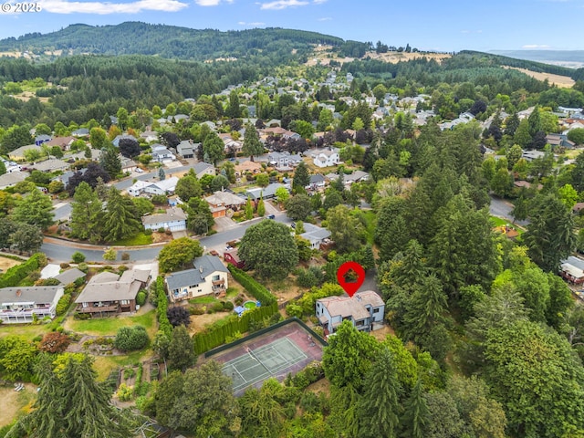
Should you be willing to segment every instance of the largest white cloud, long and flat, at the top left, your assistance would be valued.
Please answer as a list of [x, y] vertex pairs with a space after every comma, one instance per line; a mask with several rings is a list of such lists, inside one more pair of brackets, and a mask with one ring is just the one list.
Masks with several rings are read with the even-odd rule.
[[139, 0], [130, 3], [68, 2], [66, 0], [44, 0], [39, 2], [43, 11], [54, 14], [138, 14], [143, 11], [176, 12], [187, 7], [178, 0]]

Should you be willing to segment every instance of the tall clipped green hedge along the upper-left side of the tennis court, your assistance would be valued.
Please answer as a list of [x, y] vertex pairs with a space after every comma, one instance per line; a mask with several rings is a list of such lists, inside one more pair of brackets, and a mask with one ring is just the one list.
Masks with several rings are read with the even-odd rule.
[[209, 349], [214, 349], [225, 343], [225, 339], [233, 337], [236, 332], [245, 333], [249, 331], [249, 324], [252, 321], [262, 321], [277, 313], [277, 302], [274, 301], [268, 306], [261, 306], [251, 310], [246, 310], [241, 317], [232, 315], [218, 321], [210, 328], [193, 336], [194, 352], [204, 353]]

